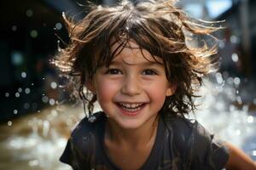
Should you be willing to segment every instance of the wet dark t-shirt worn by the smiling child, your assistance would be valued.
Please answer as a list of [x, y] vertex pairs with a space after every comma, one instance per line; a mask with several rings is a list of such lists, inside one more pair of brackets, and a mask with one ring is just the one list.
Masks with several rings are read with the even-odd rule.
[[[106, 119], [103, 112], [97, 112], [94, 117], [79, 122], [60, 160], [75, 170], [119, 169], [104, 148]], [[228, 157], [228, 149], [198, 122], [160, 115], [153, 148], [140, 169], [222, 169]]]

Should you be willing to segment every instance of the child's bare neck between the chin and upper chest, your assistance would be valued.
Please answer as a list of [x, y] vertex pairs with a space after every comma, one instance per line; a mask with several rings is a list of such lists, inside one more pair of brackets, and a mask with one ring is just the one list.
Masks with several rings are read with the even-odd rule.
[[108, 121], [106, 124], [106, 139], [120, 146], [142, 147], [154, 142], [159, 116], [155, 116], [142, 127], [124, 129], [116, 123]]

